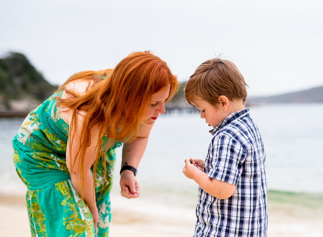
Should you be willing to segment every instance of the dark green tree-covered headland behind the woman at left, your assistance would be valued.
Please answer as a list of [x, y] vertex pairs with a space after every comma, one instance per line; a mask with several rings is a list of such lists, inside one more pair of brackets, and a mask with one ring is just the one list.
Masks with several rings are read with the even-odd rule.
[[0, 117], [26, 116], [55, 90], [25, 55], [0, 58]]

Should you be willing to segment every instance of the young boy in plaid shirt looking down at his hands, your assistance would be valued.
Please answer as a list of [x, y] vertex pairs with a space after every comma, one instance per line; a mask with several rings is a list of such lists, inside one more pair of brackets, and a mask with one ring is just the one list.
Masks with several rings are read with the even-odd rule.
[[267, 235], [265, 151], [246, 97], [245, 80], [228, 60], [205, 61], [186, 83], [186, 100], [214, 128], [205, 161], [191, 158], [183, 168], [200, 185], [194, 237]]

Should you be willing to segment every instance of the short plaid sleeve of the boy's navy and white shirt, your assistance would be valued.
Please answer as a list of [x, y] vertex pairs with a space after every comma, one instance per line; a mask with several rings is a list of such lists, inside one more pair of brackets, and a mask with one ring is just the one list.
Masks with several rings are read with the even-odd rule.
[[228, 135], [214, 139], [209, 151], [208, 177], [237, 185], [246, 154], [241, 144]]

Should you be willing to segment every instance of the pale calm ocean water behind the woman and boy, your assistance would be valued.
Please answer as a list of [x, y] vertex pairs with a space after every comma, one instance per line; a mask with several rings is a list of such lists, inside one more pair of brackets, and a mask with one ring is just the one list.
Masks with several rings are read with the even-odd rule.
[[[263, 137], [270, 190], [323, 193], [323, 104], [250, 108]], [[23, 118], [0, 118], [0, 192], [22, 193], [12, 161], [11, 140]], [[187, 158], [205, 158], [212, 135], [199, 113], [161, 115], [138, 167], [141, 196], [157, 202], [196, 205], [198, 185], [182, 173]], [[122, 148], [117, 149], [112, 194], [120, 192]]]

